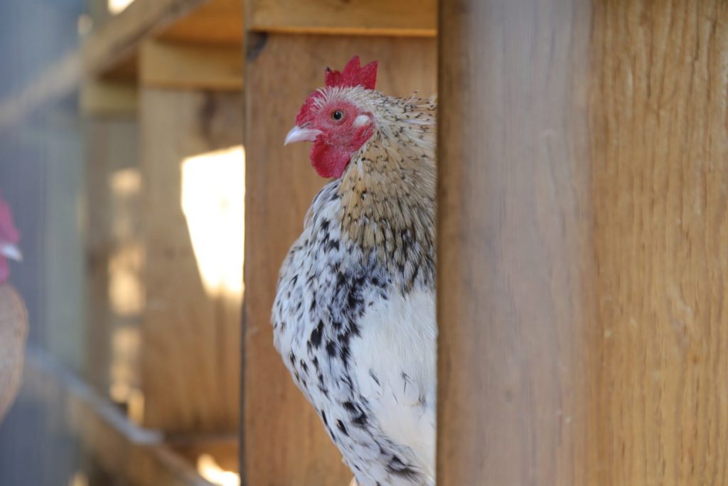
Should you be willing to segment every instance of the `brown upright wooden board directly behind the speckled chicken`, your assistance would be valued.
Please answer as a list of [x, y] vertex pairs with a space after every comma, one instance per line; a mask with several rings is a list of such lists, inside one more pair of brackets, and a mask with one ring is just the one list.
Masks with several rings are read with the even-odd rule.
[[352, 477], [273, 348], [270, 315], [280, 264], [325, 184], [309, 147], [284, 147], [283, 139], [306, 96], [323, 85], [324, 68], [355, 54], [379, 60], [385, 93], [435, 93], [430, 39], [272, 34], [246, 66], [245, 485], [341, 486]]

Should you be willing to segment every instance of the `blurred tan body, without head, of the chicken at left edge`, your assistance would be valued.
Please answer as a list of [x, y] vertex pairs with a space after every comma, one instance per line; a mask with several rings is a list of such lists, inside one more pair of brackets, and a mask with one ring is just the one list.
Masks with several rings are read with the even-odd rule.
[[8, 283], [0, 285], [0, 422], [15, 401], [23, 376], [28, 311]]

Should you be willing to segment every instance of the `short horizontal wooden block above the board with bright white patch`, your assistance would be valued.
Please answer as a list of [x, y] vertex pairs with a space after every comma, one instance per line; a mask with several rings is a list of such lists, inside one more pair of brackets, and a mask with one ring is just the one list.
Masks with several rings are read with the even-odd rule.
[[145, 42], [139, 81], [146, 87], [242, 92], [242, 46]]

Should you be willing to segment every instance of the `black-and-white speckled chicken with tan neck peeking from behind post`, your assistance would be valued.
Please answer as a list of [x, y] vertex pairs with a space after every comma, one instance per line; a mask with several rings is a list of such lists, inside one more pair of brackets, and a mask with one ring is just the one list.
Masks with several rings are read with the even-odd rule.
[[274, 345], [360, 486], [435, 483], [434, 99], [326, 70], [285, 144], [333, 178], [282, 264]]

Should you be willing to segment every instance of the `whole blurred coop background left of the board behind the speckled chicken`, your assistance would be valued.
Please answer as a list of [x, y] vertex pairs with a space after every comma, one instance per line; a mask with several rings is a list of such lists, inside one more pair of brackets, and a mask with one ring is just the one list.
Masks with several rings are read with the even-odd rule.
[[0, 2], [3, 486], [240, 483], [242, 2], [137, 3]]

